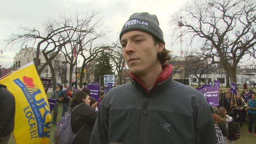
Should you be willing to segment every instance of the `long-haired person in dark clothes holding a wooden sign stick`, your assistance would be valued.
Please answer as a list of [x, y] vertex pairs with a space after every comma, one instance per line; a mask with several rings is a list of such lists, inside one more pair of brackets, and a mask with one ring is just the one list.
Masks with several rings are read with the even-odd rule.
[[[235, 103], [236, 102], [236, 103]], [[230, 103], [233, 108], [233, 120], [234, 122], [238, 122], [237, 114], [239, 116], [239, 123], [240, 123], [240, 132], [243, 131], [243, 109], [244, 109], [244, 102], [241, 98], [241, 95], [237, 93], [236, 97], [233, 99], [233, 102]]]

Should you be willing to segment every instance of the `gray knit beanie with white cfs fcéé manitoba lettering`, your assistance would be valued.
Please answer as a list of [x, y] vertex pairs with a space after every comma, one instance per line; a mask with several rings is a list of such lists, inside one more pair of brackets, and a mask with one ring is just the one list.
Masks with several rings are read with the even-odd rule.
[[128, 31], [144, 31], [159, 39], [163, 44], [163, 32], [159, 27], [159, 22], [156, 15], [148, 12], [134, 13], [129, 20], [124, 24], [119, 39], [121, 41], [122, 35]]

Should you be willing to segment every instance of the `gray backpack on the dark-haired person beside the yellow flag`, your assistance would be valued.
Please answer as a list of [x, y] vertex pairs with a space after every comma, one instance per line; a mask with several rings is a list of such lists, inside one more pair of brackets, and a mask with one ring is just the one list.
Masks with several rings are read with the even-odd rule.
[[[82, 104], [80, 104], [82, 105]], [[77, 106], [80, 106], [77, 105]], [[77, 107], [75, 106], [75, 108]], [[75, 110], [75, 108], [72, 110], [71, 113]], [[54, 131], [53, 135], [53, 142], [54, 144], [71, 144], [76, 135], [82, 130], [84, 127], [84, 124], [77, 133], [73, 133], [72, 127], [71, 127], [71, 113], [68, 113], [67, 115], [64, 115], [60, 118], [59, 122], [57, 123], [56, 129]]]

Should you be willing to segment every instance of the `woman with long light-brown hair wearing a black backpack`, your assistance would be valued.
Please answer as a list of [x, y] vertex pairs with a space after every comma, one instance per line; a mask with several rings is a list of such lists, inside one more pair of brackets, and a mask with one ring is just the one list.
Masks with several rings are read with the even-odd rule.
[[[228, 123], [232, 121], [232, 117], [226, 114], [227, 111], [224, 107], [220, 107], [218, 110], [219, 110], [219, 116], [221, 117], [222, 120], [224, 120], [225, 125], [228, 129]], [[227, 136], [224, 137], [224, 140], [225, 140], [225, 144], [234, 144], [234, 141], [229, 140]]]

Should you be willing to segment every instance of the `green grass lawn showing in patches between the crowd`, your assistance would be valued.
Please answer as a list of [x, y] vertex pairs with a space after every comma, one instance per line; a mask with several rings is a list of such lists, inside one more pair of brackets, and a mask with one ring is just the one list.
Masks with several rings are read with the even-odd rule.
[[[224, 88], [224, 87], [221, 87], [221, 89], [226, 90], [226, 88]], [[240, 92], [242, 92], [242, 91], [240, 90]], [[50, 97], [50, 95], [51, 95], [51, 93], [47, 93], [47, 97]], [[62, 112], [62, 107], [58, 107], [57, 121], [61, 117], [61, 112]], [[52, 116], [53, 116], [53, 112], [52, 112]], [[53, 143], [53, 133], [54, 133], [55, 128], [56, 128], [56, 125], [52, 125], [50, 141], [49, 141], [50, 144], [54, 144]], [[241, 132], [241, 138], [236, 140], [235, 144], [255, 144], [256, 143], [256, 136], [245, 133], [247, 130], [248, 130], [248, 124], [246, 122], [245, 124], [243, 124], [243, 132]], [[11, 134], [11, 138], [10, 138], [10, 141], [8, 144], [15, 144], [13, 134]]]

